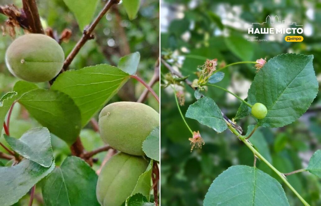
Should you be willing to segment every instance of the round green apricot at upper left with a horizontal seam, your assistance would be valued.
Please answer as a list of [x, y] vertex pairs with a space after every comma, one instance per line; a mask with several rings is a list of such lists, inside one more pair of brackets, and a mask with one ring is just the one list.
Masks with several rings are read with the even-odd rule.
[[25, 34], [14, 40], [5, 53], [9, 71], [30, 82], [52, 80], [64, 64], [61, 46], [44, 34]]

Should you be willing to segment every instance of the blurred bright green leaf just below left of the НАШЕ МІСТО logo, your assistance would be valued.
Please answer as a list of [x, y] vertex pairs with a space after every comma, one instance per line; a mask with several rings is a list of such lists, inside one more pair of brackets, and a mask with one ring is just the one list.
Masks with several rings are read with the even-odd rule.
[[240, 35], [231, 35], [224, 39], [229, 50], [239, 57], [242, 61], [249, 61], [254, 54], [254, 48], [251, 42], [248, 42]]

